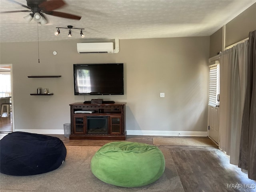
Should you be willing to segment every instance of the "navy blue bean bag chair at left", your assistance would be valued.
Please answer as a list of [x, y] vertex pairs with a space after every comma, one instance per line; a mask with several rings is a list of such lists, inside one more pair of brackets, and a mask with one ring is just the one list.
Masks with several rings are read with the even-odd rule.
[[64, 162], [66, 153], [59, 138], [12, 132], [0, 140], [0, 172], [13, 176], [50, 172]]

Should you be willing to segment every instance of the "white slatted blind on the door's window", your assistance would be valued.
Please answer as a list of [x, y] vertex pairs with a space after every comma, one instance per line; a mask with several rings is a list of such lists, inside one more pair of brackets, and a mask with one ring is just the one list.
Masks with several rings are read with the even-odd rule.
[[219, 63], [209, 66], [209, 91], [208, 91], [208, 105], [216, 106], [219, 94]]

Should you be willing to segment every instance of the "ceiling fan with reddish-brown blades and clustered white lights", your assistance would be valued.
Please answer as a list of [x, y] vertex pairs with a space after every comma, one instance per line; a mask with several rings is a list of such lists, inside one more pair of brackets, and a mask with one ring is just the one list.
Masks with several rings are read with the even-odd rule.
[[1, 13], [15, 13], [15, 12], [32, 12], [24, 17], [24, 19], [29, 23], [33, 18], [36, 22], [40, 22], [40, 24], [44, 25], [48, 23], [46, 16], [44, 14], [68, 18], [68, 19], [76, 19], [80, 20], [81, 16], [68, 14], [64, 12], [54, 11], [55, 9], [61, 8], [66, 5], [63, 0], [26, 0], [27, 5], [24, 5], [15, 0], [9, 0], [20, 6], [27, 8], [29, 10], [17, 10], [17, 11], [5, 11]]

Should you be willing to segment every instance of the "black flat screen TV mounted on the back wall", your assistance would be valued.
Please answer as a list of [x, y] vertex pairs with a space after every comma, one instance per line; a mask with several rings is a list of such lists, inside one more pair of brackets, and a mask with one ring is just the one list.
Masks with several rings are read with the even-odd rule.
[[74, 64], [75, 95], [123, 95], [124, 64]]

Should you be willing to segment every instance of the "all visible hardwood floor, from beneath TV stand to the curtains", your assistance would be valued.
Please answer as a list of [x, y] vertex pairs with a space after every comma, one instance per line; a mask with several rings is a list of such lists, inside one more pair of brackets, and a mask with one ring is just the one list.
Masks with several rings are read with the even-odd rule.
[[[4, 134], [0, 134], [1, 138]], [[69, 140], [65, 146], [103, 146], [116, 140]], [[153, 144], [154, 136], [131, 136], [126, 141]], [[158, 146], [168, 149], [185, 192], [254, 192], [256, 182], [248, 179], [240, 168], [229, 163], [229, 156], [217, 147]], [[167, 160], [166, 160], [167, 161]]]

